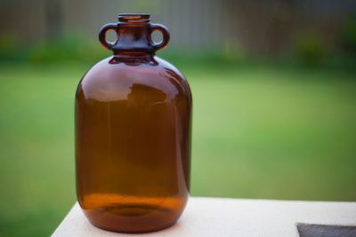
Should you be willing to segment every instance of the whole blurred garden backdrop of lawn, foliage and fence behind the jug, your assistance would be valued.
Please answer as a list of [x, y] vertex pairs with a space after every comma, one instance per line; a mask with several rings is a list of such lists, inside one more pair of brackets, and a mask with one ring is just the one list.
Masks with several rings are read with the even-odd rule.
[[119, 12], [171, 32], [193, 196], [356, 201], [355, 1], [0, 0], [0, 236], [48, 236], [76, 201], [74, 94]]

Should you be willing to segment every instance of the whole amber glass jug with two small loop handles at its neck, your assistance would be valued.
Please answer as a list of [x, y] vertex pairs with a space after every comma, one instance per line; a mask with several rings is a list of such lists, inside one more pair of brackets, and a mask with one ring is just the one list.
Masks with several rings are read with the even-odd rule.
[[[110, 43], [106, 33], [117, 40]], [[151, 34], [158, 31], [162, 41]], [[155, 56], [169, 40], [148, 14], [120, 14], [101, 44], [113, 56], [77, 86], [77, 200], [93, 225], [143, 233], [174, 225], [190, 189], [190, 86]]]

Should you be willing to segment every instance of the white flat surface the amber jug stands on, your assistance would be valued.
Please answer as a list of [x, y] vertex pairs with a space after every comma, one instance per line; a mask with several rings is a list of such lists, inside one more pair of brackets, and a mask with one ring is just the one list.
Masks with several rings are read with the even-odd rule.
[[296, 223], [356, 225], [356, 202], [190, 198], [176, 225], [156, 233], [111, 233], [89, 223], [76, 203], [54, 237], [299, 236]]

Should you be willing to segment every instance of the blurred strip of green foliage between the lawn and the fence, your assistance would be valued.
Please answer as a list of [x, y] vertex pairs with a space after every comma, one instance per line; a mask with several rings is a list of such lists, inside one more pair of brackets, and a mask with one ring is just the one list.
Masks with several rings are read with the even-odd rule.
[[[350, 32], [353, 32], [352, 30]], [[349, 34], [352, 39], [352, 34]], [[203, 65], [204, 67], [255, 67], [279, 65], [282, 67], [328, 67], [355, 70], [356, 57], [329, 51], [319, 36], [300, 35], [295, 39], [295, 54], [269, 57], [251, 57], [242, 48], [226, 45], [224, 49], [211, 48], [202, 51], [172, 49], [158, 51], [158, 56], [174, 62], [179, 67]], [[68, 34], [61, 38], [36, 43], [21, 43], [11, 34], [0, 36], [0, 61], [21, 64], [93, 63], [112, 55], [96, 39]], [[296, 60], [295, 60], [296, 59]], [[297, 64], [295, 64], [297, 61]]]

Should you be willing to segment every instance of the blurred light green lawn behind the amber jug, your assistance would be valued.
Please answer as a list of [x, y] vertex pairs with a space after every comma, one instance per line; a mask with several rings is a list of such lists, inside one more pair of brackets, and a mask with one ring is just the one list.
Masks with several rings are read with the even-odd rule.
[[[47, 236], [76, 200], [83, 65], [0, 67], [0, 236]], [[191, 194], [356, 201], [356, 77], [183, 68], [194, 99]]]

